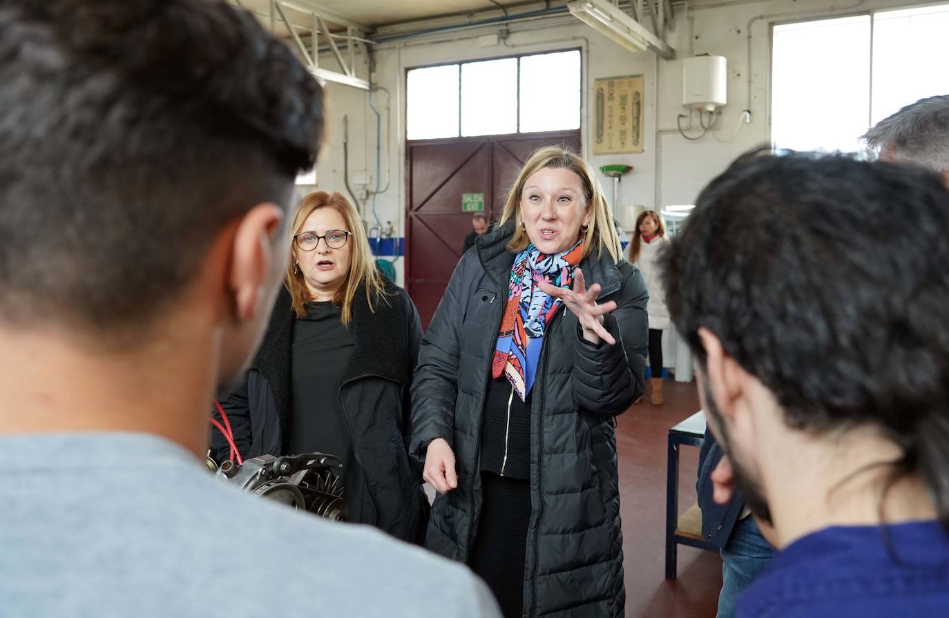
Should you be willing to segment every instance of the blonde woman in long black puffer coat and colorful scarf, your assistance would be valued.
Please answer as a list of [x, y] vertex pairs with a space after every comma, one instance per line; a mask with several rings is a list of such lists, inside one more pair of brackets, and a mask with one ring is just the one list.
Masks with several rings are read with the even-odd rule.
[[614, 417], [642, 394], [647, 298], [596, 174], [549, 146], [422, 339], [426, 546], [471, 565], [506, 616], [623, 615]]

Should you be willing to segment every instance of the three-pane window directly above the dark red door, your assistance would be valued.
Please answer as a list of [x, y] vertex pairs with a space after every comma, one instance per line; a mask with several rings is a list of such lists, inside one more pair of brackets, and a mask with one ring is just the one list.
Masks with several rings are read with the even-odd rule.
[[409, 140], [580, 128], [580, 51], [413, 68]]

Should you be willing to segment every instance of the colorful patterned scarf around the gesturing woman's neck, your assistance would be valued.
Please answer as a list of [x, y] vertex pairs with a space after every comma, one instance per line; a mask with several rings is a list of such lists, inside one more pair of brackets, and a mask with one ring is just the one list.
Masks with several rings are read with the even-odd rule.
[[494, 346], [491, 374], [500, 378], [503, 373], [522, 402], [527, 401], [533, 386], [544, 330], [561, 306], [561, 301], [544, 293], [537, 282], [545, 278], [558, 288], [569, 288], [583, 253], [583, 240], [555, 255], [540, 253], [531, 243], [514, 259], [511, 293]]

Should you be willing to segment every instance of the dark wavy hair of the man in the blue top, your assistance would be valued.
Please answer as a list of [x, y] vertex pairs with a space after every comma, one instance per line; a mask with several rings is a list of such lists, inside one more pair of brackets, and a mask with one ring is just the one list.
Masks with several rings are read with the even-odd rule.
[[759, 151], [702, 191], [662, 266], [700, 365], [704, 327], [789, 426], [879, 427], [904, 452], [894, 479], [918, 473], [949, 530], [947, 235], [936, 174]]

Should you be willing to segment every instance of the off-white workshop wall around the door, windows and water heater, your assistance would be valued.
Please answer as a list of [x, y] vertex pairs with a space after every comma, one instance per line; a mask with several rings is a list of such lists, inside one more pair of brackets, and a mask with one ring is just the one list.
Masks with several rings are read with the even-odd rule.
[[[728, 3], [723, 2], [723, 5]], [[918, 3], [915, 3], [918, 4]], [[392, 221], [395, 234], [404, 235], [404, 75], [412, 66], [459, 62], [492, 58], [511, 54], [547, 51], [568, 47], [583, 49], [584, 116], [582, 140], [584, 154], [595, 166], [606, 163], [625, 163], [634, 167], [623, 177], [618, 202], [620, 205], [657, 205], [694, 203], [701, 187], [741, 152], [758, 144], [768, 143], [769, 69], [771, 25], [802, 18], [854, 14], [873, 9], [909, 6], [902, 0], [772, 0], [753, 4], [694, 9], [688, 13], [676, 12], [676, 29], [669, 43], [675, 47], [679, 59], [693, 54], [710, 53], [728, 59], [728, 105], [716, 125], [716, 136], [728, 140], [735, 133], [743, 111], [752, 112], [751, 123], [738, 129], [735, 139], [722, 142], [710, 134], [698, 142], [682, 138], [676, 130], [676, 118], [685, 112], [681, 106], [680, 60], [664, 61], [648, 52], [632, 53], [618, 46], [592, 28], [566, 15], [554, 22], [534, 22], [511, 25], [506, 45], [478, 47], [476, 37], [496, 32], [501, 27], [441, 33], [440, 40], [407, 39], [381, 44], [376, 49], [376, 72], [373, 82], [391, 93], [391, 102], [384, 92], [373, 95], [382, 114], [381, 183], [390, 178], [387, 191], [377, 197], [377, 212], [384, 225]], [[751, 105], [748, 101], [748, 45], [751, 23], [752, 83]], [[446, 40], [449, 36], [451, 40]], [[321, 66], [333, 67], [331, 56], [321, 57]], [[358, 73], [367, 75], [368, 63], [363, 56], [357, 59]], [[600, 77], [642, 73], [644, 77], [644, 152], [638, 155], [610, 157], [589, 156], [589, 90], [592, 81]], [[807, 87], [807, 84], [802, 84]], [[326, 87], [327, 140], [318, 165], [318, 187], [327, 191], [345, 192], [343, 175], [344, 116], [349, 122], [350, 180], [360, 173], [372, 177], [369, 189], [375, 186], [376, 117], [368, 105], [367, 93], [337, 84]], [[814, 96], [820, 96], [815, 92]], [[909, 102], [907, 102], [909, 103]], [[391, 104], [386, 122], [385, 106]], [[698, 122], [697, 122], [698, 125]], [[693, 131], [691, 135], [698, 135]], [[391, 140], [391, 147], [387, 142]], [[611, 180], [602, 178], [607, 196], [611, 195]], [[352, 188], [359, 197], [365, 186]], [[371, 200], [365, 202], [364, 218], [375, 225]], [[402, 260], [396, 265], [402, 283]]]

